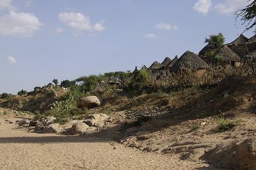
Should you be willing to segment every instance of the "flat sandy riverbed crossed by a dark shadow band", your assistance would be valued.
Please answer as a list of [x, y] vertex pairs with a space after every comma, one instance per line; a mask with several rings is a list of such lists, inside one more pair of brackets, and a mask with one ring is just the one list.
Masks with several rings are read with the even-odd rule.
[[16, 127], [0, 124], [0, 169], [213, 169], [100, 138], [34, 134]]

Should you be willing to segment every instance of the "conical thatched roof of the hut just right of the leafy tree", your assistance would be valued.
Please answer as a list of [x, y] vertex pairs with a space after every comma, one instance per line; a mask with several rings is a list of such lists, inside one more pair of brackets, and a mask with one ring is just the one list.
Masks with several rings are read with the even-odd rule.
[[221, 57], [221, 61], [240, 61], [240, 57], [227, 46], [218, 49], [213, 57], [216, 55]]

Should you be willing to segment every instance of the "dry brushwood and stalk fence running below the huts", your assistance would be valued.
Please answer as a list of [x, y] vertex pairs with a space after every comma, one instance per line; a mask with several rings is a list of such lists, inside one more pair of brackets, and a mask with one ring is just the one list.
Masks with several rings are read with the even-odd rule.
[[177, 90], [187, 87], [215, 86], [223, 78], [234, 76], [248, 76], [256, 74], [256, 63], [251, 61], [241, 62], [240, 67], [215, 68], [208, 67], [201, 75], [197, 75], [190, 70], [181, 74], [165, 72], [161, 77], [152, 76], [149, 87], [153, 89]]

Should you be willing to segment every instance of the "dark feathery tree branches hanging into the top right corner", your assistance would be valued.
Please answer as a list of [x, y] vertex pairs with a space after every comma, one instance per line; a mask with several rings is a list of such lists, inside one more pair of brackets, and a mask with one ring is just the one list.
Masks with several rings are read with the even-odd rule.
[[[247, 5], [242, 10], [238, 10], [235, 13], [235, 15], [236, 15], [236, 19], [241, 18], [241, 21], [243, 21], [242, 25], [246, 24], [245, 31], [252, 29], [256, 25], [256, 1], [252, 0], [251, 4]], [[256, 33], [256, 28], [254, 32]]]

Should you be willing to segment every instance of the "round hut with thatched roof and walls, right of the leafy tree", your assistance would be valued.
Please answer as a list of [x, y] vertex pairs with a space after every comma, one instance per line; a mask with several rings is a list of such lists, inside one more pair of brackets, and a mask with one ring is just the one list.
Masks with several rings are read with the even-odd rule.
[[215, 52], [212, 61], [216, 60], [221, 60], [220, 64], [223, 67], [240, 66], [240, 57], [227, 46], [223, 46]]

